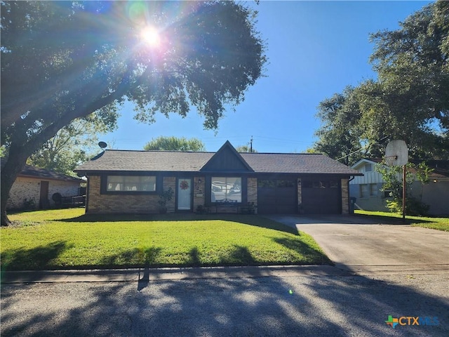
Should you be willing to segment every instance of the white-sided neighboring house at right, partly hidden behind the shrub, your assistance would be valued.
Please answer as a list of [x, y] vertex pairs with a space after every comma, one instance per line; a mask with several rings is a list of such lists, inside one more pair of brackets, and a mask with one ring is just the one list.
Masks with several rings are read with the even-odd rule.
[[[356, 206], [366, 211], [388, 211], [386, 199], [389, 191], [381, 192], [384, 180], [376, 171], [375, 166], [382, 159], [361, 159], [352, 169], [363, 173], [349, 181], [349, 195], [356, 198]], [[413, 161], [417, 164], [419, 161]], [[422, 185], [415, 180], [412, 185], [412, 195], [430, 206], [429, 214], [434, 216], [449, 215], [449, 161], [426, 161], [427, 166], [434, 169], [428, 184]], [[398, 177], [401, 179], [401, 177]]]

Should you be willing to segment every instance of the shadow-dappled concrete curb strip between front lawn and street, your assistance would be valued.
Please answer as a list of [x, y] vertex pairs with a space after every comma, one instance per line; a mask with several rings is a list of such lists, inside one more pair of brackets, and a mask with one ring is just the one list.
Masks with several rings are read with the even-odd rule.
[[112, 270], [25, 270], [2, 272], [1, 284], [53, 282], [148, 282], [176, 279], [347, 275], [354, 275], [354, 272], [350, 272], [349, 270], [341, 270], [331, 265], [174, 267]]

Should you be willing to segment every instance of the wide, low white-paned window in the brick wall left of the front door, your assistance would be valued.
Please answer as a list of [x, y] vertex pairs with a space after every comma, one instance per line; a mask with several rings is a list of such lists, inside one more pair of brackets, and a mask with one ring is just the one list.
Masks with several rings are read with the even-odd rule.
[[107, 192], [154, 192], [156, 176], [107, 176]]

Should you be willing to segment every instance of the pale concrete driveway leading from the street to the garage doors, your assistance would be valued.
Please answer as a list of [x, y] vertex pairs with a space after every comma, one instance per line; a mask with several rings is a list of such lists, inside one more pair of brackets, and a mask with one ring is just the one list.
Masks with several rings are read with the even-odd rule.
[[449, 273], [449, 232], [358, 216], [269, 216], [310, 234], [335, 266], [370, 273]]

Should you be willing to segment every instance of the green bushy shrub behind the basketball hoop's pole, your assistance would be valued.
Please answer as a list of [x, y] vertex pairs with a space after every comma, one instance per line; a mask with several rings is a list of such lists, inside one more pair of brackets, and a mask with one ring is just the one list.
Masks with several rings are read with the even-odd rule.
[[[376, 171], [382, 174], [384, 185], [382, 192], [390, 191], [387, 208], [392, 213], [402, 213], [403, 204], [403, 166], [386, 166], [384, 163], [376, 165]], [[413, 182], [419, 180], [421, 184], [429, 183], [432, 169], [424, 162], [406, 165], [406, 214], [410, 216], [424, 216], [429, 211], [429, 205], [412, 197]]]

